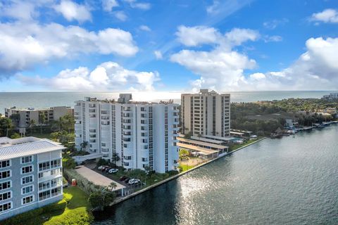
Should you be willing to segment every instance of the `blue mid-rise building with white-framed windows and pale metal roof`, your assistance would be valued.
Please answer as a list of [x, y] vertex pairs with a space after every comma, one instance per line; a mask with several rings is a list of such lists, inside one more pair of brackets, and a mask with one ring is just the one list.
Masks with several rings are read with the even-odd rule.
[[63, 198], [63, 149], [48, 139], [0, 138], [0, 221]]

